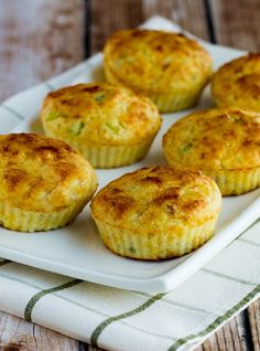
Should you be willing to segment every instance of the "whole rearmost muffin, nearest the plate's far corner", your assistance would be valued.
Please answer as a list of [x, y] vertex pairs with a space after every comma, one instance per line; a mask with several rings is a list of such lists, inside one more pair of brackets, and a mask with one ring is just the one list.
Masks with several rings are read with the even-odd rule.
[[161, 113], [194, 106], [212, 73], [212, 57], [183, 34], [123, 30], [104, 50], [106, 78], [149, 96]]

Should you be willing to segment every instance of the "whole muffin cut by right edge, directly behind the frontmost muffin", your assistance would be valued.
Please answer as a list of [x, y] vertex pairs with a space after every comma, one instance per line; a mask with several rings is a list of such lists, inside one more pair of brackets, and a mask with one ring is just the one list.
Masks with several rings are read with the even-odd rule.
[[210, 176], [224, 195], [260, 187], [260, 114], [238, 107], [196, 111], [163, 137], [169, 163]]

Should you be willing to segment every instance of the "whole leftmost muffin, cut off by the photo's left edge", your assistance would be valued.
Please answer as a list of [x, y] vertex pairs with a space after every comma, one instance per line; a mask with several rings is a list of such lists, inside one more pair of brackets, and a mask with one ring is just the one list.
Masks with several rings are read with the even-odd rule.
[[20, 232], [69, 223], [97, 188], [90, 164], [63, 141], [34, 134], [0, 136], [0, 224]]

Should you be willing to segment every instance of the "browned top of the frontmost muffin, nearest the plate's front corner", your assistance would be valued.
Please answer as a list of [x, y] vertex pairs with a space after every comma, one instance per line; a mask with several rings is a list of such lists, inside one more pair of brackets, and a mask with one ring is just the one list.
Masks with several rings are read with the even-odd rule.
[[204, 224], [216, 216], [220, 204], [220, 192], [210, 178], [158, 166], [110, 182], [93, 199], [91, 211], [111, 226], [140, 234], [151, 230], [152, 235], [176, 225]]

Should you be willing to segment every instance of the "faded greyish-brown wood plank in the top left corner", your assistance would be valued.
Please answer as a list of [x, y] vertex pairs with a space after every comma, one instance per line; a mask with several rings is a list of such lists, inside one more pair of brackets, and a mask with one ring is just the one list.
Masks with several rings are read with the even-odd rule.
[[0, 0], [0, 100], [84, 56], [84, 0]]

